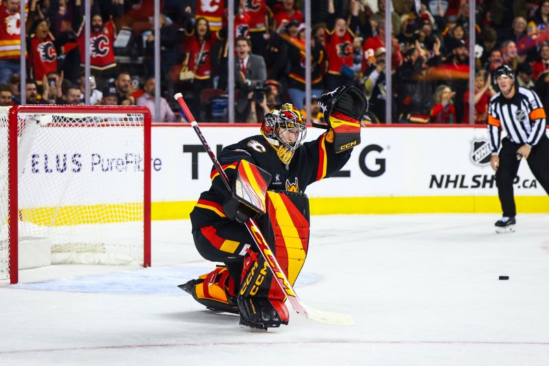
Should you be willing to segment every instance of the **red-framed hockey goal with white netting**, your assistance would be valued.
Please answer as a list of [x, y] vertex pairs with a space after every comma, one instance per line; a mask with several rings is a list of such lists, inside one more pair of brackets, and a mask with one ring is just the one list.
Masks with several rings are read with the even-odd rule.
[[0, 107], [0, 282], [23, 239], [58, 263], [150, 266], [150, 140], [145, 107]]

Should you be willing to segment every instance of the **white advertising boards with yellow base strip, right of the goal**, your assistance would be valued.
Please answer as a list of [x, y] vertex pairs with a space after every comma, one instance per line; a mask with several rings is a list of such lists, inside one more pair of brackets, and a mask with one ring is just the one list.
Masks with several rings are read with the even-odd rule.
[[[218, 152], [259, 134], [257, 125], [203, 124], [201, 129]], [[322, 132], [309, 128], [306, 141]], [[156, 217], [185, 216], [182, 212], [211, 184], [209, 156], [189, 126], [155, 126], [152, 138], [152, 200], [166, 210]], [[313, 213], [500, 210], [485, 127], [365, 127], [361, 138], [340, 173], [307, 187]], [[546, 193], [526, 162], [517, 174], [515, 195], [523, 212], [549, 212]]]

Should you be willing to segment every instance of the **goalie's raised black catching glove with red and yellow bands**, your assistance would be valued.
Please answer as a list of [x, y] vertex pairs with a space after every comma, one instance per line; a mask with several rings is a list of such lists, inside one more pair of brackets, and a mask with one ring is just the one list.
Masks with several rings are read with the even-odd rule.
[[318, 106], [323, 110], [324, 120], [334, 134], [336, 153], [360, 144], [360, 121], [368, 110], [368, 101], [358, 88], [340, 86], [323, 94], [318, 100]]

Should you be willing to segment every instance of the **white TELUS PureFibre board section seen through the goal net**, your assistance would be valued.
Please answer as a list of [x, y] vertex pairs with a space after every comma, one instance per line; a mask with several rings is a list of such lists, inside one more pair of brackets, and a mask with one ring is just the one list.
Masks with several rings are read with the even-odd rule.
[[142, 129], [47, 127], [32, 141], [20, 156], [19, 208], [143, 200]]

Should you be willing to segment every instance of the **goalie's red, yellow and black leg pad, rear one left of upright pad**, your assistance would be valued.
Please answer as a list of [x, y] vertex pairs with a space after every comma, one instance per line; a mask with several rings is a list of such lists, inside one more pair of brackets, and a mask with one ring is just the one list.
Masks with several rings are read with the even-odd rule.
[[235, 280], [224, 266], [218, 266], [210, 273], [178, 287], [211, 310], [238, 314]]

